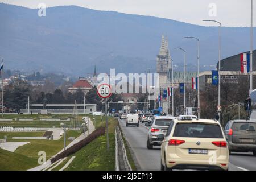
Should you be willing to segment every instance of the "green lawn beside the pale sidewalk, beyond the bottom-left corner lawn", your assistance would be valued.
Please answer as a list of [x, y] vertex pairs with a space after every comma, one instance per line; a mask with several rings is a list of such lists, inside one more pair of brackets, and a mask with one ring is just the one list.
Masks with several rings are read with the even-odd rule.
[[[79, 137], [81, 134], [81, 131], [68, 130], [66, 139], [68, 139], [68, 137]], [[45, 151], [48, 160], [64, 147], [64, 137], [61, 137], [59, 140], [16, 139], [15, 141], [30, 142], [24, 146], [18, 147], [14, 152], [34, 159], [38, 159], [39, 151]], [[66, 144], [68, 145], [69, 143], [71, 142], [67, 140]]]

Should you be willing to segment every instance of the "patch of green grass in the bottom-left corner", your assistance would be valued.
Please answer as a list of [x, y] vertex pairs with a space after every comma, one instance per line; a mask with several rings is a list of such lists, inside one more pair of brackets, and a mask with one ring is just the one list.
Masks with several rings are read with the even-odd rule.
[[0, 171], [27, 170], [36, 166], [38, 160], [0, 148]]

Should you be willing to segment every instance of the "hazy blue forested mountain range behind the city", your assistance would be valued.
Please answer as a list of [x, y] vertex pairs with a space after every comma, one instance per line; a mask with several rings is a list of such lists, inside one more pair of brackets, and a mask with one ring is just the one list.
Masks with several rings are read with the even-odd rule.
[[[183, 53], [174, 49], [179, 47], [187, 51], [188, 71], [196, 71], [196, 42], [184, 36], [200, 39], [201, 71], [216, 68], [218, 61], [218, 27], [78, 6], [49, 7], [39, 17], [38, 9], [4, 3], [0, 22], [5, 69], [85, 76], [96, 65], [98, 73], [155, 72], [162, 34], [178, 71], [184, 64]], [[221, 27], [221, 46], [222, 59], [249, 51], [250, 28]]]

